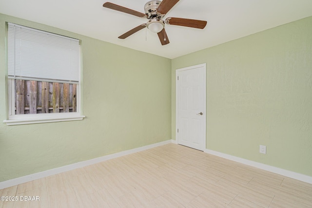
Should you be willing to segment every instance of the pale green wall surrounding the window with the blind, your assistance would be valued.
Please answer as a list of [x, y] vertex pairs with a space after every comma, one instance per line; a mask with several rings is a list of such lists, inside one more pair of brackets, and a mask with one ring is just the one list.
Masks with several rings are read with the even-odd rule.
[[[2, 123], [7, 119], [6, 21], [82, 41], [85, 119]], [[0, 98], [0, 182], [171, 139], [170, 59], [1, 14]]]

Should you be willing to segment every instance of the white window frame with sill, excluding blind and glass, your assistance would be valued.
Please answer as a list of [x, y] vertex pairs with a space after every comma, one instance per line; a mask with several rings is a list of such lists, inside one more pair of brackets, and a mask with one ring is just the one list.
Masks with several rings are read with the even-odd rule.
[[[8, 23], [6, 25], [8, 25]], [[6, 44], [8, 44], [7, 41], [6, 41]], [[6, 45], [6, 51], [8, 51], [7, 45]], [[85, 116], [81, 114], [81, 55], [82, 55], [81, 45], [79, 44], [78, 84], [77, 84], [77, 92], [76, 92], [77, 112], [15, 114], [15, 79], [9, 78], [8, 76], [6, 76], [7, 83], [8, 83], [8, 88], [7, 88], [8, 114], [7, 114], [7, 120], [4, 120], [3, 123], [6, 123], [6, 125], [10, 126], [10, 125], [21, 125], [21, 124], [82, 120]], [[7, 61], [6, 61], [6, 69], [8, 70]]]

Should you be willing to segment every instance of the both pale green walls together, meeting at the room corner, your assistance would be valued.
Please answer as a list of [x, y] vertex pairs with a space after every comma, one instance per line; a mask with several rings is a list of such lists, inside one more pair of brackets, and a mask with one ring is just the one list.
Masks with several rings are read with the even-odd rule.
[[[6, 21], [81, 39], [85, 119], [1, 122]], [[170, 60], [0, 14], [0, 182], [175, 139], [175, 70], [200, 63], [206, 148], [312, 176], [311, 37], [312, 17]]]

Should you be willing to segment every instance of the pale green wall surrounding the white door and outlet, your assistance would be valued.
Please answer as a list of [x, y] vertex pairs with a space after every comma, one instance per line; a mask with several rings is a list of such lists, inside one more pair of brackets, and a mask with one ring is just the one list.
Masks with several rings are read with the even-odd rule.
[[175, 71], [200, 63], [206, 148], [312, 176], [312, 17], [173, 59], [173, 139]]

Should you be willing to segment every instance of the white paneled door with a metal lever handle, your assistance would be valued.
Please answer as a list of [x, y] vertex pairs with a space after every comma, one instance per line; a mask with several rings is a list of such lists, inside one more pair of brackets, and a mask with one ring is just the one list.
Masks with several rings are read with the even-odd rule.
[[206, 149], [206, 64], [176, 70], [176, 140]]

